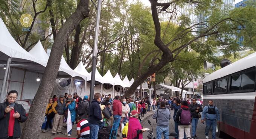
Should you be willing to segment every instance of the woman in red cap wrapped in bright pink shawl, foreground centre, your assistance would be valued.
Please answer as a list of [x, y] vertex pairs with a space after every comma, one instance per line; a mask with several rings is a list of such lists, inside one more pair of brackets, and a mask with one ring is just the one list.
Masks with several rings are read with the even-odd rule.
[[142, 128], [139, 118], [139, 112], [136, 110], [131, 111], [132, 116], [129, 118], [127, 139], [143, 139], [142, 133], [145, 129]]

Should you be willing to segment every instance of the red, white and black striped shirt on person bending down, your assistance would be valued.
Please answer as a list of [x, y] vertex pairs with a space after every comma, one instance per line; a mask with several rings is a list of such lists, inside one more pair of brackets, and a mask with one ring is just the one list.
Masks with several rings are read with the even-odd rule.
[[90, 127], [89, 123], [86, 119], [82, 119], [78, 122], [76, 126], [76, 130], [80, 130], [80, 136], [83, 138], [89, 138], [90, 135]]

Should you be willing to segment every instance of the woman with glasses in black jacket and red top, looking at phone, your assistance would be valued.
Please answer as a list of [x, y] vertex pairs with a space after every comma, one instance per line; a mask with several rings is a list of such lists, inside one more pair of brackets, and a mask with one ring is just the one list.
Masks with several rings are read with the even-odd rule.
[[[0, 139], [20, 138], [20, 122], [25, 122], [27, 117], [21, 104], [15, 103], [18, 92], [8, 92], [4, 103], [0, 103]], [[15, 132], [14, 132], [15, 131]]]

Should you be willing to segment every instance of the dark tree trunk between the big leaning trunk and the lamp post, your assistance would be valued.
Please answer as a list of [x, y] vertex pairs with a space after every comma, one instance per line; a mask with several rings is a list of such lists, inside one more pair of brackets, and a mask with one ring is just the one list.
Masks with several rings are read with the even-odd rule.
[[70, 58], [70, 68], [75, 69], [76, 64], [78, 62], [78, 53], [79, 53], [79, 38], [80, 38], [81, 26], [78, 24], [76, 26], [76, 33], [75, 33], [75, 45], [72, 48], [71, 58]]

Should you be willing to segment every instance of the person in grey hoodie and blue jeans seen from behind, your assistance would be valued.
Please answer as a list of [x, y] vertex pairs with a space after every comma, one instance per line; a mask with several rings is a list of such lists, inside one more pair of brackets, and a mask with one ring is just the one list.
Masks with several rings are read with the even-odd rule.
[[161, 139], [162, 133], [165, 139], [169, 139], [169, 121], [171, 119], [171, 113], [169, 109], [165, 107], [165, 102], [161, 101], [160, 108], [154, 113], [153, 119], [157, 122], [157, 139]]

